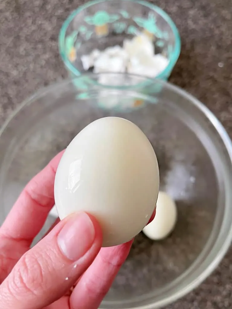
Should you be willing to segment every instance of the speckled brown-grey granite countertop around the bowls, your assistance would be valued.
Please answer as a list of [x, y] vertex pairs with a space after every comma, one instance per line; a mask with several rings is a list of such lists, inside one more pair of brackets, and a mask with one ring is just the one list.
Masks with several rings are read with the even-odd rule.
[[[62, 22], [84, 0], [1, 0], [0, 124], [28, 95], [64, 78]], [[232, 138], [231, 0], [154, 0], [176, 23], [182, 51], [170, 81], [203, 101]], [[203, 284], [166, 309], [232, 308], [232, 247]]]

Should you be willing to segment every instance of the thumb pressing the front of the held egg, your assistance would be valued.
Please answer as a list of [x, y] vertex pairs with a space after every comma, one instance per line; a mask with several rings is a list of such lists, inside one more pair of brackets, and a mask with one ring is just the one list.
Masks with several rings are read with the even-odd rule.
[[0, 308], [37, 309], [63, 296], [101, 248], [97, 220], [84, 212], [61, 222], [22, 256], [0, 286]]

